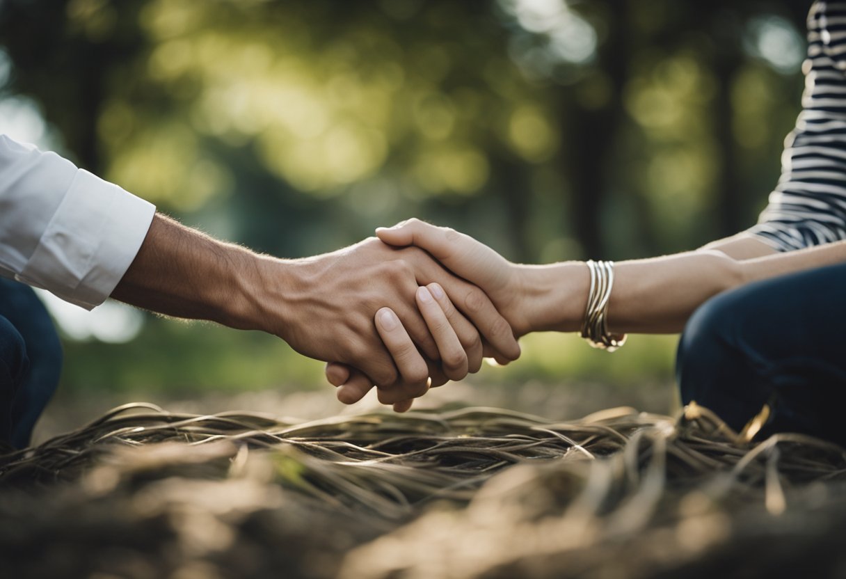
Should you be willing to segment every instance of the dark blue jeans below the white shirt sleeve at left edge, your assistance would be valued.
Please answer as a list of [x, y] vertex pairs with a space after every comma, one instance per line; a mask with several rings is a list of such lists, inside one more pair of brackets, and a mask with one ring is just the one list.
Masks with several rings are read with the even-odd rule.
[[44, 305], [30, 287], [0, 278], [0, 442], [30, 444], [61, 370], [62, 345]]

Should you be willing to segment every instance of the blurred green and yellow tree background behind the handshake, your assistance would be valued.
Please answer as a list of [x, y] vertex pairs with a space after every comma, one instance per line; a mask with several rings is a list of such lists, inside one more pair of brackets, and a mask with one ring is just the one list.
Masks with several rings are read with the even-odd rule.
[[[808, 8], [0, 0], [0, 130], [276, 256], [412, 216], [519, 262], [654, 256], [755, 222], [799, 111]], [[340, 409], [321, 363], [270, 336], [51, 297], [65, 403], [312, 389]], [[552, 389], [657, 392], [662, 410], [675, 344], [530, 336], [453, 392], [551, 412]]]

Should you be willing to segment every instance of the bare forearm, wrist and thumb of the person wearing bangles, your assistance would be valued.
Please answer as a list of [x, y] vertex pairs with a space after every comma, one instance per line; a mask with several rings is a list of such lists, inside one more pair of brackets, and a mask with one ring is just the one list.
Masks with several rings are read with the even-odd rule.
[[[583, 262], [514, 264], [467, 235], [417, 219], [376, 233], [391, 245], [425, 249], [450, 271], [485, 290], [516, 335], [572, 332], [581, 326], [589, 285]], [[722, 291], [842, 262], [846, 262], [846, 241], [777, 253], [743, 235], [698, 251], [618, 262], [608, 306], [609, 329], [677, 333], [698, 306]]]

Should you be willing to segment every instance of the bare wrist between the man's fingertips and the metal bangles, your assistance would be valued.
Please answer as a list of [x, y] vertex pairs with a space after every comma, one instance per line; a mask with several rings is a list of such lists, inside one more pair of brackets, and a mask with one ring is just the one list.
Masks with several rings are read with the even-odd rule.
[[590, 273], [582, 262], [518, 266], [528, 332], [577, 332], [585, 316]]

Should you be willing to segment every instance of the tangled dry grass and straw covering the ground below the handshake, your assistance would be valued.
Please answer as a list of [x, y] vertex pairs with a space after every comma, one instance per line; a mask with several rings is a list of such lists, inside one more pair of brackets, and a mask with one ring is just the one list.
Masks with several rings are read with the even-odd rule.
[[0, 456], [0, 561], [28, 577], [818, 576], [846, 571], [846, 452], [689, 406], [573, 422], [128, 405]]

